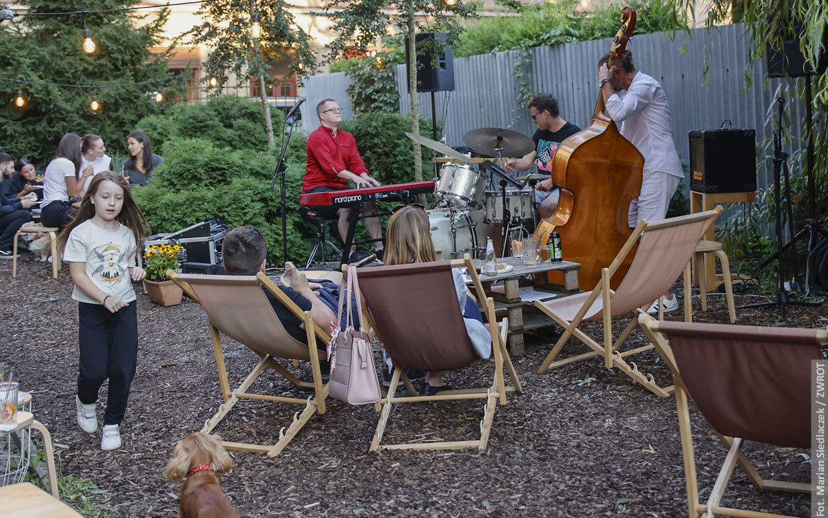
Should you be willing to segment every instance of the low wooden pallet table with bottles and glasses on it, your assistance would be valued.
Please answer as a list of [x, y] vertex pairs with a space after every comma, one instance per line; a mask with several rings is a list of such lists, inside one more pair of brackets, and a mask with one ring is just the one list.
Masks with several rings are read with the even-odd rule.
[[[503, 274], [493, 276], [480, 275], [480, 281], [484, 283], [484, 288], [494, 298], [495, 311], [499, 309], [506, 309], [509, 317], [509, 352], [513, 356], [522, 356], [523, 351], [523, 332], [528, 329], [537, 327], [545, 327], [553, 324], [551, 318], [532, 315], [531, 321], [527, 322], [524, 319], [523, 309], [529, 303], [522, 301], [520, 298], [521, 278], [524, 275], [532, 274], [535, 279], [534, 282], [527, 281], [526, 285], [533, 285], [539, 291], [549, 292], [558, 297], [566, 297], [573, 293], [579, 293], [578, 289], [578, 270], [580, 264], [572, 261], [561, 261], [560, 263], [539, 263], [535, 266], [528, 267], [523, 264], [523, 259], [507, 257], [498, 259], [499, 263], [512, 265], [513, 269]], [[550, 284], [546, 282], [547, 272], [552, 270], [560, 270], [564, 274], [564, 284]], [[492, 293], [491, 283], [493, 281], [503, 281], [503, 293]], [[528, 317], [528, 315], [527, 315]]]

